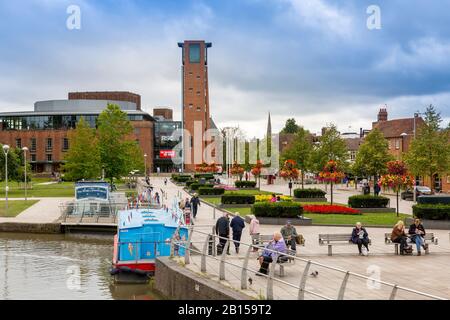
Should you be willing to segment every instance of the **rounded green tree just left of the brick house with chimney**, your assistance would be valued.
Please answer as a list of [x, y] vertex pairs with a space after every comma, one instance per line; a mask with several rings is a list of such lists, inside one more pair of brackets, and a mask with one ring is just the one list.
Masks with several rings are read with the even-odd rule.
[[383, 133], [375, 128], [359, 147], [352, 169], [354, 174], [360, 177], [373, 176], [376, 182], [378, 176], [386, 173], [386, 162], [391, 160], [393, 160], [393, 156], [389, 153], [388, 142]]

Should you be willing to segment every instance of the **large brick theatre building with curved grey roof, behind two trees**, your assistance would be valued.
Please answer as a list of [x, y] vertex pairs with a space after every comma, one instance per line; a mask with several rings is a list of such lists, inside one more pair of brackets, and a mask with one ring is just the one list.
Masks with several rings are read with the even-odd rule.
[[74, 92], [68, 100], [39, 101], [33, 111], [0, 113], [0, 143], [27, 147], [28, 161], [37, 173], [58, 172], [70, 148], [68, 132], [83, 117], [92, 128], [107, 104], [126, 112], [134, 127], [134, 138], [153, 170], [155, 120], [141, 110], [141, 98], [130, 92]]

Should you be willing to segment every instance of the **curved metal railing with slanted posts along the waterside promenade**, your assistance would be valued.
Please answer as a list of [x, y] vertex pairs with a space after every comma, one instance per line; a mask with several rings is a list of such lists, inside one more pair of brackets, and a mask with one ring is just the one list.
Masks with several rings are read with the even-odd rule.
[[[206, 236], [205, 241], [203, 242], [202, 251], [199, 251], [191, 246], [192, 237], [193, 237], [194, 233], [198, 233], [200, 235]], [[216, 239], [226, 240], [226, 244], [222, 250], [222, 254], [220, 255], [220, 257], [217, 257], [214, 253], [212, 255], [209, 255], [207, 252], [208, 247], [210, 247], [211, 245], [213, 248], [215, 248]], [[245, 258], [244, 258], [244, 262], [242, 265], [232, 262], [232, 261], [227, 261], [227, 251], [230, 246], [230, 243], [239, 243], [242, 246], [248, 247]], [[206, 264], [207, 258], [218, 261], [219, 262], [219, 279], [220, 280], [226, 279], [226, 268], [225, 268], [226, 265], [239, 268], [241, 271], [241, 275], [240, 275], [240, 280], [241, 280], [240, 289], [241, 290], [246, 290], [248, 288], [247, 287], [248, 272], [259, 273], [258, 270], [250, 268], [248, 266], [248, 263], [249, 263], [250, 255], [253, 252], [253, 249], [254, 248], [261, 249], [261, 246], [245, 243], [242, 241], [234, 241], [229, 238], [220, 237], [220, 236], [216, 235], [214, 231], [212, 233], [208, 233], [208, 232], [204, 232], [204, 231], [200, 231], [200, 230], [195, 230], [193, 227], [189, 227], [189, 236], [188, 236], [187, 242], [181, 243], [181, 242], [171, 241], [171, 247], [173, 247], [175, 244], [177, 244], [180, 247], [184, 247], [186, 249], [185, 255], [184, 255], [184, 263], [185, 264], [190, 263], [191, 253], [197, 253], [197, 254], [201, 255], [201, 266], [200, 266], [201, 272], [204, 272], [204, 273], [207, 272], [207, 264]], [[305, 294], [309, 294], [311, 296], [325, 299], [325, 300], [335, 300], [335, 299], [343, 300], [345, 297], [347, 284], [351, 278], [371, 281], [372, 283], [378, 284], [380, 286], [387, 286], [388, 288], [391, 289], [390, 294], [389, 294], [389, 300], [395, 300], [395, 298], [398, 296], [399, 291], [411, 293], [411, 294], [417, 295], [422, 298], [428, 298], [428, 299], [433, 299], [433, 300], [447, 300], [445, 298], [442, 298], [442, 297], [439, 297], [436, 295], [432, 295], [432, 294], [428, 294], [428, 293], [421, 292], [418, 290], [410, 289], [410, 288], [403, 287], [403, 286], [400, 286], [400, 285], [397, 285], [394, 283], [389, 283], [389, 282], [382, 281], [382, 280], [379, 280], [379, 279], [376, 279], [373, 277], [369, 277], [369, 276], [365, 276], [365, 275], [351, 272], [348, 270], [344, 270], [341, 268], [325, 265], [323, 263], [315, 262], [312, 260], [299, 258], [297, 256], [283, 253], [280, 251], [275, 251], [275, 250], [272, 250], [269, 248], [264, 248], [264, 250], [271, 252], [275, 255], [275, 258], [273, 259], [273, 263], [270, 264], [269, 273], [267, 275], [260, 274], [267, 279], [266, 299], [268, 299], [268, 300], [274, 299], [274, 291], [273, 291], [274, 290], [274, 282], [296, 289], [298, 300], [304, 300]], [[172, 249], [171, 249], [171, 252], [172, 252]], [[301, 261], [303, 263], [306, 263], [306, 265], [303, 269], [303, 272], [301, 273], [301, 277], [299, 279], [298, 284], [284, 281], [282, 279], [275, 277], [275, 268], [276, 268], [276, 265], [278, 264], [278, 262], [276, 262], [276, 261], [277, 261], [277, 258], [281, 255], [286, 256], [289, 259], [292, 259], [293, 261]], [[315, 292], [306, 287], [309, 271], [312, 266], [321, 267], [328, 271], [337, 272], [337, 273], [343, 275], [343, 279], [340, 284], [339, 291], [337, 292], [336, 297], [325, 296], [321, 293]]]

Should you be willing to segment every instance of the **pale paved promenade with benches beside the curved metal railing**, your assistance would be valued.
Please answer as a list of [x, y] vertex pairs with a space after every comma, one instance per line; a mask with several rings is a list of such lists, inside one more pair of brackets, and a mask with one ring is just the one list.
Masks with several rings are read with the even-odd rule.
[[[182, 191], [181, 187], [168, 182], [165, 187], [163, 178], [152, 177], [151, 183], [156, 188], [166, 190], [169, 202], [173, 196], [181, 192], [183, 197], [188, 196]], [[220, 216], [220, 212], [216, 211], [216, 217]], [[211, 232], [212, 225], [215, 224], [214, 211], [212, 207], [202, 204], [199, 208], [197, 219], [195, 221], [196, 230], [204, 232]], [[248, 227], [248, 226], [247, 226]], [[262, 234], [271, 234], [279, 230], [280, 226], [261, 226]], [[383, 281], [395, 283], [404, 287], [423, 291], [429, 294], [438, 295], [444, 298], [450, 298], [450, 242], [449, 232], [439, 230], [428, 230], [435, 232], [439, 238], [439, 245], [430, 245], [431, 254], [418, 256], [395, 256], [394, 247], [384, 244], [384, 232], [390, 232], [390, 229], [383, 228], [369, 228], [368, 232], [372, 239], [372, 246], [370, 247], [370, 254], [368, 257], [361, 257], [357, 254], [356, 246], [336, 246], [333, 247], [333, 256], [327, 255], [327, 247], [319, 246], [319, 233], [349, 233], [351, 229], [348, 227], [299, 227], [298, 231], [306, 238], [306, 246], [298, 248], [298, 257], [306, 260], [323, 263], [329, 266], [342, 268], [344, 270], [356, 272], [366, 276], [376, 276]], [[194, 245], [201, 249], [206, 236], [194, 232]], [[244, 229], [242, 241], [249, 243], [250, 236], [248, 229]], [[234, 253], [234, 248], [231, 248], [232, 253], [227, 257], [237, 265], [242, 265], [245, 257], [246, 248], [241, 249], [239, 255]], [[256, 261], [257, 255], [252, 254], [249, 262], [249, 267], [258, 268]], [[279, 278], [288, 283], [299, 285], [303, 269], [306, 262], [297, 261], [295, 264], [285, 264], [286, 276]], [[200, 272], [200, 256], [193, 255], [191, 264], [187, 268], [201, 274]], [[219, 263], [209, 257], [207, 259], [207, 273], [203, 274], [205, 277], [218, 280]], [[318, 271], [317, 277], [308, 276], [307, 289], [316, 293], [323, 294], [329, 298], [337, 298], [340, 285], [344, 278], [344, 274], [330, 271], [322, 267], [311, 267], [310, 272]], [[278, 272], [278, 269], [277, 269]], [[249, 278], [252, 280], [251, 286], [244, 292], [254, 298], [266, 296], [266, 278], [256, 277], [249, 272]], [[224, 285], [230, 286], [237, 290], [240, 289], [240, 268], [227, 265], [226, 280], [221, 281]], [[291, 288], [288, 285], [274, 282], [274, 298], [275, 299], [296, 299], [297, 289]], [[381, 286], [377, 288], [368, 285], [366, 280], [358, 279], [350, 276], [345, 298], [347, 299], [388, 299], [392, 288]], [[305, 295], [306, 299], [317, 299], [312, 295]], [[398, 299], [423, 299], [418, 295], [411, 293], [404, 293], [398, 291]]]

